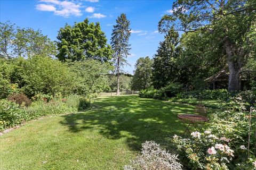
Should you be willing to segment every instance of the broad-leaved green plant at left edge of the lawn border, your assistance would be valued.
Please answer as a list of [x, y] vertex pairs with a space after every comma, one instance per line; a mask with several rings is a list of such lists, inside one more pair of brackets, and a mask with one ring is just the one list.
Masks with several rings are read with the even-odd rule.
[[26, 118], [26, 112], [18, 104], [0, 100], [0, 130], [10, 128], [22, 123]]

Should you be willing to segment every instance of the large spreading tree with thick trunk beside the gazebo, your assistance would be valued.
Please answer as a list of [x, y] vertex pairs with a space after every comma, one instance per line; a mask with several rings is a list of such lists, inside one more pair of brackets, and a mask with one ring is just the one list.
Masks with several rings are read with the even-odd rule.
[[[255, 0], [176, 1], [172, 14], [159, 21], [161, 32], [175, 30], [209, 32], [223, 43], [229, 69], [228, 91], [241, 89], [246, 57], [255, 48], [250, 35], [255, 32]], [[255, 43], [255, 42], [254, 42]]]

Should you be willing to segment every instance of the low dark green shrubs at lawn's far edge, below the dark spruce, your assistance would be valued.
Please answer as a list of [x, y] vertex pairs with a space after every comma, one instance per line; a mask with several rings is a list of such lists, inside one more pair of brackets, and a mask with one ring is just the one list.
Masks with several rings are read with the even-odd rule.
[[154, 99], [166, 99], [174, 97], [183, 90], [182, 84], [178, 82], [169, 83], [168, 86], [162, 87], [161, 89], [154, 89], [150, 87], [139, 92], [139, 96], [142, 98], [154, 98]]

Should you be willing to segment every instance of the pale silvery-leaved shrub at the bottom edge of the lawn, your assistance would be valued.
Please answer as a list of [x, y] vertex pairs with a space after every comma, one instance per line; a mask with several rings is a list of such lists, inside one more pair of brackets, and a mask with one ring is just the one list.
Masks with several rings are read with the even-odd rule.
[[141, 156], [131, 161], [130, 165], [124, 167], [125, 170], [147, 170], [147, 169], [170, 169], [182, 170], [182, 165], [177, 162], [178, 155], [172, 155], [163, 150], [154, 141], [142, 143]]

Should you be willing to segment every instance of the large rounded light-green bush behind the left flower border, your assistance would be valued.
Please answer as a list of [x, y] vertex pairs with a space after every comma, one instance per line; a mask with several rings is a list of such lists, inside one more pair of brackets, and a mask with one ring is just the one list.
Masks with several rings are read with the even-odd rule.
[[33, 56], [27, 60], [18, 58], [14, 64], [12, 81], [29, 97], [39, 93], [68, 95], [74, 89], [74, 73], [60, 61]]

